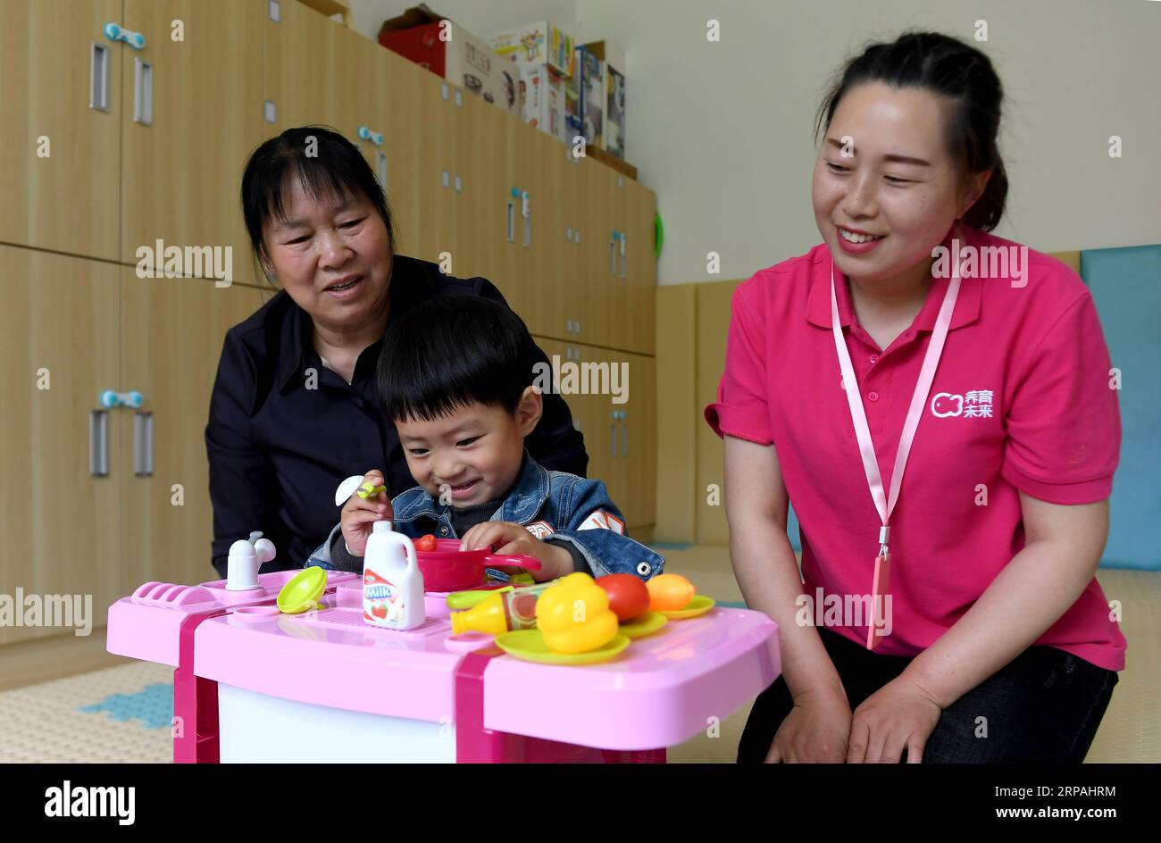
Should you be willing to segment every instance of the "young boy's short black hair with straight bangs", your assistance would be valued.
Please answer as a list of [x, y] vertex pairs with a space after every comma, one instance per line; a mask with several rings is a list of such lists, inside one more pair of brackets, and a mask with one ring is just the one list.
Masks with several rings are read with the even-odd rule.
[[435, 298], [388, 330], [380, 401], [392, 420], [431, 422], [477, 402], [511, 413], [534, 363], [528, 329], [503, 304], [476, 295]]

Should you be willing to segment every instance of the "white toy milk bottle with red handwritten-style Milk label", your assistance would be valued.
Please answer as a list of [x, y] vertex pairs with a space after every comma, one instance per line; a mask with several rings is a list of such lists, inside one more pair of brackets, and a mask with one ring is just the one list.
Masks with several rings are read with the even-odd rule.
[[424, 618], [424, 575], [414, 545], [390, 521], [375, 521], [363, 557], [363, 622], [413, 629]]

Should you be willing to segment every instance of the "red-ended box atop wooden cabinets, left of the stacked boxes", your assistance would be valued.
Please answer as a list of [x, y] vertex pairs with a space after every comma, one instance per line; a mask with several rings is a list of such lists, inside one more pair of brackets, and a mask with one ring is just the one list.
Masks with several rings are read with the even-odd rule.
[[491, 45], [426, 5], [383, 21], [378, 43], [505, 111], [519, 114], [517, 74]]

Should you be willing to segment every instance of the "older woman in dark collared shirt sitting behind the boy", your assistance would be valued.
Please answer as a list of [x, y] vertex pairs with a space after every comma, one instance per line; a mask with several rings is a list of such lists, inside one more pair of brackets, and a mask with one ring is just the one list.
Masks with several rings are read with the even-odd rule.
[[[338, 518], [344, 477], [382, 468], [391, 496], [413, 487], [375, 395], [383, 333], [433, 296], [504, 301], [485, 279], [396, 254], [382, 188], [329, 129], [288, 129], [259, 146], [241, 203], [254, 254], [282, 290], [226, 333], [210, 399], [212, 564], [222, 576], [230, 545], [255, 529], [277, 547], [268, 570], [302, 565]], [[584, 441], [558, 395], [545, 396], [527, 447], [546, 468], [584, 476]]]

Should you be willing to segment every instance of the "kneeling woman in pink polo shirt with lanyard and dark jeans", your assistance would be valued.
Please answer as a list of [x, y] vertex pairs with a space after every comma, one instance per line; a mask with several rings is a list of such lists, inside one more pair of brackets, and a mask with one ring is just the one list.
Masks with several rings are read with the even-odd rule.
[[987, 233], [1001, 101], [954, 38], [867, 48], [819, 113], [823, 244], [734, 294], [706, 419], [783, 656], [740, 761], [1080, 762], [1124, 668], [1109, 352], [1074, 272]]

